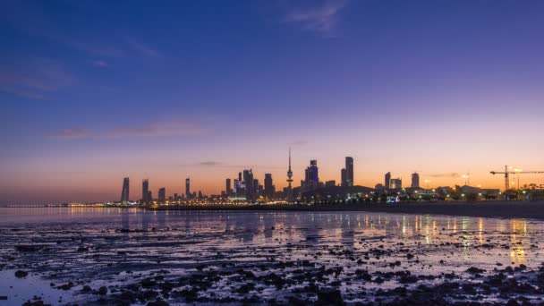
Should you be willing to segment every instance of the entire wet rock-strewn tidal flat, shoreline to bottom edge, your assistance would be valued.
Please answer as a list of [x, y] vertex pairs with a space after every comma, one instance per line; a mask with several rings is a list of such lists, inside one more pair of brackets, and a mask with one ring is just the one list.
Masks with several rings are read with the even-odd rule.
[[36, 209], [2, 212], [0, 305], [544, 302], [536, 220]]

